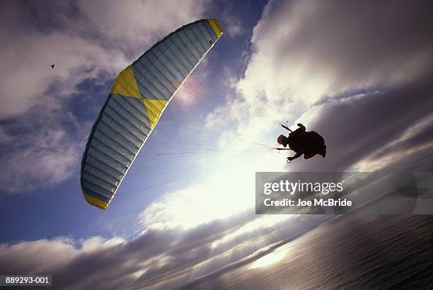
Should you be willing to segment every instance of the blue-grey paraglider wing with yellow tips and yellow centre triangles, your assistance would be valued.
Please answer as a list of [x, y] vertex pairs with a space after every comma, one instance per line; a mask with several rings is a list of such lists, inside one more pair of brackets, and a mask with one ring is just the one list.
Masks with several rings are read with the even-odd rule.
[[171, 98], [222, 34], [216, 19], [184, 25], [120, 72], [81, 161], [89, 204], [107, 209]]

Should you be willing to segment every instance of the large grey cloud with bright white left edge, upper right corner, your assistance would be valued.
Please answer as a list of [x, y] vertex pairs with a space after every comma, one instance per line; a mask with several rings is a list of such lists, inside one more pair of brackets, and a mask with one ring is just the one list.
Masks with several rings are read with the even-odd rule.
[[416, 79], [432, 62], [431, 11], [426, 1], [270, 1], [241, 83], [302, 111], [326, 95]]

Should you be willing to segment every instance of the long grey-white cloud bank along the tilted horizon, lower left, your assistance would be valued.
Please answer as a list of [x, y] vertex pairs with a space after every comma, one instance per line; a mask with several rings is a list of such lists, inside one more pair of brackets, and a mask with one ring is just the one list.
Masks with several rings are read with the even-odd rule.
[[[321, 220], [293, 219], [284, 226], [284, 235], [302, 233]], [[242, 229], [247, 221], [249, 214], [243, 214], [232, 221], [213, 221], [187, 231], [146, 229], [130, 241], [95, 236], [1, 244], [0, 272], [52, 274], [54, 286], [60, 289], [167, 289], [287, 238], [275, 231], [277, 223], [260, 232], [255, 226], [244, 230], [243, 243], [227, 238], [228, 231]]]

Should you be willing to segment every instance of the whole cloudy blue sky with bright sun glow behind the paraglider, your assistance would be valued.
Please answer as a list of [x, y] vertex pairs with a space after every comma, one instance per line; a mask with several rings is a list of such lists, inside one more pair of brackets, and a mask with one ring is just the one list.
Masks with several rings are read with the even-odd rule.
[[[177, 286], [325, 219], [255, 216], [255, 171], [433, 169], [432, 1], [181, 2], [3, 2], [0, 272]], [[223, 37], [110, 208], [89, 206], [79, 166], [113, 79], [202, 18]], [[285, 163], [279, 121], [320, 132], [327, 157]]]

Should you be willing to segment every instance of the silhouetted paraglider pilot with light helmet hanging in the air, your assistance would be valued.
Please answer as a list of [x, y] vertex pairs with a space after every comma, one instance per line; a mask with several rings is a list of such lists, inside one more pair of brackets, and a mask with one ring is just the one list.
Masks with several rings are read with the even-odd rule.
[[323, 137], [318, 133], [311, 131], [306, 132], [303, 124], [298, 124], [298, 129], [291, 132], [288, 137], [279, 135], [277, 142], [284, 147], [289, 145], [289, 148], [295, 151], [295, 155], [287, 157], [287, 161], [292, 161], [301, 157], [304, 154], [304, 159], [311, 158], [316, 154], [321, 155], [323, 158], [326, 156], [326, 145]]

